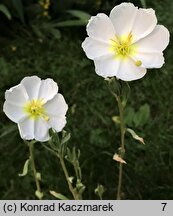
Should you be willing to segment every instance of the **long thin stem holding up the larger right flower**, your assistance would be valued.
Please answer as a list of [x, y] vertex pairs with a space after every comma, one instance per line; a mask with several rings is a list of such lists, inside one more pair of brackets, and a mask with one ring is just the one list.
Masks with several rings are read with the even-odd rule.
[[[124, 153], [125, 144], [124, 144], [124, 135], [125, 135], [125, 125], [124, 125], [124, 108], [121, 102], [120, 96], [116, 96], [118, 102], [118, 108], [120, 113], [120, 130], [121, 130], [121, 145], [120, 151]], [[122, 155], [121, 155], [122, 156]], [[118, 188], [117, 188], [117, 200], [121, 199], [121, 187], [122, 187], [122, 174], [123, 174], [123, 164], [119, 164], [119, 176], [118, 176]]]

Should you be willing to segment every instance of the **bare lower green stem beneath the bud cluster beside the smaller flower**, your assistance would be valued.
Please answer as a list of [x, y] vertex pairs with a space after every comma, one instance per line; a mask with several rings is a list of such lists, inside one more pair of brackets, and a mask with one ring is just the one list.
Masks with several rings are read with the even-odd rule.
[[65, 175], [65, 178], [66, 178], [66, 181], [68, 183], [68, 187], [69, 187], [69, 190], [70, 192], [72, 193], [73, 195], [73, 198], [75, 200], [79, 200], [80, 197], [78, 196], [78, 194], [76, 193], [75, 189], [73, 188], [71, 182], [70, 182], [70, 177], [69, 177], [69, 174], [68, 174], [68, 171], [67, 171], [67, 168], [66, 168], [66, 165], [65, 165], [65, 162], [64, 162], [64, 158], [61, 156], [61, 155], [58, 155], [58, 158], [60, 160], [60, 163], [61, 163], [61, 166], [62, 166], [62, 169], [64, 171], [64, 175]]

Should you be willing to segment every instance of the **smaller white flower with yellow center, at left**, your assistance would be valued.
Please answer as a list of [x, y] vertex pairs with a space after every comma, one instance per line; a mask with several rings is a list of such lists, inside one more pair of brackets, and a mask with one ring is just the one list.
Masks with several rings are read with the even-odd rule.
[[52, 79], [25, 77], [21, 83], [5, 92], [3, 110], [18, 124], [25, 140], [49, 140], [49, 129], [61, 131], [66, 124], [68, 106], [58, 93]]

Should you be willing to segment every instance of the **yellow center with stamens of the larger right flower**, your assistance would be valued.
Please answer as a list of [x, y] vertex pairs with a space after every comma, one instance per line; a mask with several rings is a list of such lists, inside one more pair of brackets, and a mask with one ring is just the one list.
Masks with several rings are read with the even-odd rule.
[[[133, 44], [133, 36], [130, 32], [128, 35], [121, 37], [115, 36], [110, 40], [110, 51], [115, 53], [115, 58], [127, 59], [127, 57], [134, 57], [137, 53], [137, 46]], [[136, 66], [141, 66], [140, 60], [135, 61]]]

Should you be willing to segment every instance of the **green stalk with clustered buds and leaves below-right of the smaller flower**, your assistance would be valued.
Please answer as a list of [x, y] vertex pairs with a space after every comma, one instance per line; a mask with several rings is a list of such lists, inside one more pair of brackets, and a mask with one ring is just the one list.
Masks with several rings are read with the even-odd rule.
[[[85, 190], [85, 186], [82, 184], [82, 174], [79, 165], [80, 151], [75, 149], [75, 147], [67, 147], [67, 142], [70, 139], [70, 133], [62, 131], [61, 134], [56, 133], [54, 130], [50, 130], [49, 146], [43, 145], [48, 151], [53, 153], [58, 160], [65, 175], [66, 182], [70, 193], [73, 196], [74, 200], [82, 200], [82, 193]], [[73, 165], [75, 171], [75, 180], [74, 177], [69, 175], [68, 169], [66, 167], [65, 159]]]

